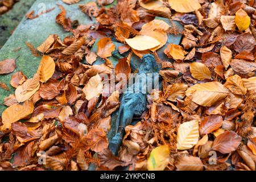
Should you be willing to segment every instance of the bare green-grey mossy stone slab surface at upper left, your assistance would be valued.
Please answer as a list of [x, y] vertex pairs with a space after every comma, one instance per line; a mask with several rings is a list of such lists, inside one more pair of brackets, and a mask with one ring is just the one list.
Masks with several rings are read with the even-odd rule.
[[[90, 1], [91, 0], [81, 0], [78, 4], [84, 4]], [[38, 47], [51, 34], [57, 34], [61, 39], [71, 35], [70, 32], [65, 32], [63, 28], [55, 22], [57, 14], [61, 11], [57, 6], [58, 4], [63, 5], [67, 10], [67, 17], [70, 17], [72, 20], [79, 20], [80, 24], [89, 24], [94, 21], [90, 20], [87, 15], [81, 12], [78, 4], [67, 5], [61, 0], [36, 1], [28, 11], [34, 10], [35, 14], [38, 14], [44, 6], [46, 10], [52, 9], [52, 7], [55, 7], [55, 9], [35, 19], [23, 18], [13, 32], [13, 35], [10, 36], [5, 45], [0, 49], [0, 61], [5, 59], [16, 60], [16, 69], [13, 73], [0, 75], [0, 81], [5, 82], [10, 88], [10, 91], [0, 89], [0, 104], [3, 104], [5, 97], [14, 94], [15, 88], [10, 85], [10, 80], [15, 72], [22, 71], [27, 78], [31, 78], [38, 69], [42, 57], [33, 56], [25, 42], [30, 42], [34, 47]], [[6, 106], [0, 105], [0, 114], [2, 114], [2, 111], [5, 109]]]

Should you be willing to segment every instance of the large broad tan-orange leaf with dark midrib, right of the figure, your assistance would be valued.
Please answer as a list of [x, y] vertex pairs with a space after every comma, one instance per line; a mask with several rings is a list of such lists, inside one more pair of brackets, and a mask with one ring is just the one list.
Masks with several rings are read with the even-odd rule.
[[217, 81], [195, 84], [186, 91], [187, 97], [192, 96], [192, 101], [201, 106], [212, 106], [224, 99], [228, 93], [229, 90]]

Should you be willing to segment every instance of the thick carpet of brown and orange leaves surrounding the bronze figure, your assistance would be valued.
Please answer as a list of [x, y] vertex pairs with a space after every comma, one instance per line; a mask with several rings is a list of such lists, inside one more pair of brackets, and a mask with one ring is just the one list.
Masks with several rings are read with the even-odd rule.
[[[256, 2], [123, 0], [102, 6], [109, 3], [79, 5], [96, 24], [77, 24], [60, 5], [56, 23], [73, 36], [50, 35], [38, 48], [30, 46], [42, 60], [34, 77], [20, 71], [11, 78], [16, 90], [5, 98], [9, 107], [0, 126], [0, 167], [255, 170]], [[184, 30], [155, 16], [177, 20]], [[167, 36], [181, 34], [180, 45], [164, 50], [172, 63], [159, 59], [156, 50]], [[113, 39], [125, 45], [117, 48]], [[115, 73], [131, 72], [131, 53], [152, 53], [163, 77], [163, 89], [147, 96], [141, 121], [126, 126], [118, 156], [107, 149], [106, 134], [123, 80], [116, 79], [117, 91], [108, 94], [104, 84], [110, 78], [101, 77], [110, 75], [108, 57], [115, 49], [129, 55], [119, 60]], [[97, 57], [105, 63], [93, 65]], [[14, 60], [0, 64], [10, 65], [1, 73], [15, 69]], [[38, 163], [43, 157], [45, 165]]]

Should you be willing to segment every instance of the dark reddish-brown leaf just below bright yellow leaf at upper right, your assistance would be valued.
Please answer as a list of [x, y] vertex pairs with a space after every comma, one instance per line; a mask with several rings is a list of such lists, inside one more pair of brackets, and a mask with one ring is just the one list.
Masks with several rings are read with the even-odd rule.
[[250, 33], [244, 33], [237, 36], [236, 41], [234, 42], [234, 49], [237, 52], [248, 51], [254, 49], [255, 39], [254, 36]]

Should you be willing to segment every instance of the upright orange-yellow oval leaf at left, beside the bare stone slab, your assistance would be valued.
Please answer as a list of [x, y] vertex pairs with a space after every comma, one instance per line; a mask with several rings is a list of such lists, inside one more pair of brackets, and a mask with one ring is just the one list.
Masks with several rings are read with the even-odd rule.
[[55, 72], [55, 63], [50, 56], [43, 56], [38, 67], [38, 75], [41, 82], [46, 82]]

